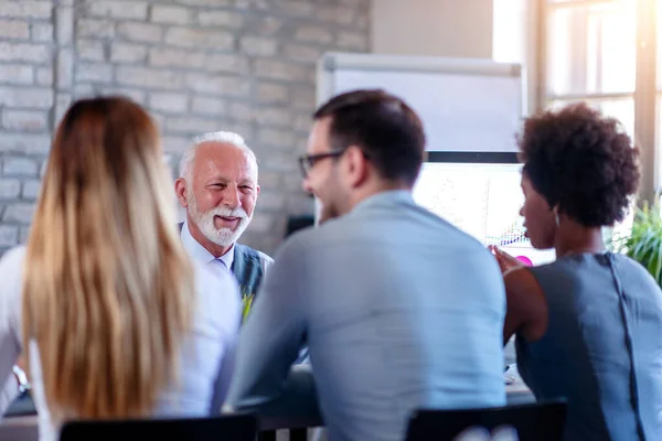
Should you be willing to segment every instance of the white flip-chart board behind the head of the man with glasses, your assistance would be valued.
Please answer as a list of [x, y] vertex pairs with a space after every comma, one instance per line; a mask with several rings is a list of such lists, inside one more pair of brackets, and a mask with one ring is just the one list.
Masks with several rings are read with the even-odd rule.
[[317, 99], [382, 88], [418, 114], [428, 151], [515, 153], [522, 78], [520, 65], [491, 60], [328, 53], [318, 63]]

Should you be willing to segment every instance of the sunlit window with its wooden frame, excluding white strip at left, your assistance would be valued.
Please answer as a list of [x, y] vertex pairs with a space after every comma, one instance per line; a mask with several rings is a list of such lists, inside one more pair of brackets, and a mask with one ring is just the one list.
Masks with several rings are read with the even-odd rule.
[[[586, 101], [616, 117], [641, 150], [640, 198], [660, 187], [662, 0], [537, 0], [543, 90], [537, 108]], [[658, 34], [655, 36], [655, 33]], [[654, 97], [654, 98], [653, 98]], [[632, 222], [633, 211], [616, 230]]]

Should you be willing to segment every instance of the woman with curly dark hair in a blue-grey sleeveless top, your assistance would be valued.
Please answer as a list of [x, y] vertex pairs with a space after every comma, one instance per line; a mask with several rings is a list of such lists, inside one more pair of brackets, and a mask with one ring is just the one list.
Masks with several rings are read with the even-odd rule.
[[565, 398], [565, 440], [662, 439], [662, 291], [636, 261], [606, 250], [640, 179], [617, 120], [584, 104], [528, 118], [520, 138], [521, 214], [556, 261], [504, 271], [503, 338], [537, 400]]

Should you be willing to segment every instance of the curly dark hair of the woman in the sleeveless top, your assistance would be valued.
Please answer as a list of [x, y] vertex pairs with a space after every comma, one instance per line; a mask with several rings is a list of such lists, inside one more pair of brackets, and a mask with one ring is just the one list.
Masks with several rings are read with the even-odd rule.
[[586, 104], [527, 118], [519, 137], [523, 173], [549, 206], [587, 227], [626, 217], [639, 187], [639, 149], [620, 122]]

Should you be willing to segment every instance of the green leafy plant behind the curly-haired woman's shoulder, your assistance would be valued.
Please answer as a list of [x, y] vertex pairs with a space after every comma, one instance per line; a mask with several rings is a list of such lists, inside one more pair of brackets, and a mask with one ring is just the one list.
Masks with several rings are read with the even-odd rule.
[[641, 263], [662, 287], [662, 216], [658, 203], [650, 206], [644, 202], [634, 212], [632, 228], [615, 235], [608, 244], [615, 252], [621, 252]]

